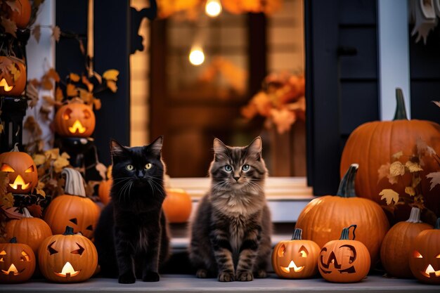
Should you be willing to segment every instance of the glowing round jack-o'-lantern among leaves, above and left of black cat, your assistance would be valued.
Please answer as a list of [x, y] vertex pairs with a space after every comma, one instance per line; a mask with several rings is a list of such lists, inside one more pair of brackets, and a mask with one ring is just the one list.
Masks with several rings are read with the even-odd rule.
[[96, 118], [89, 105], [75, 99], [58, 109], [53, 123], [60, 136], [89, 137], [95, 130]]

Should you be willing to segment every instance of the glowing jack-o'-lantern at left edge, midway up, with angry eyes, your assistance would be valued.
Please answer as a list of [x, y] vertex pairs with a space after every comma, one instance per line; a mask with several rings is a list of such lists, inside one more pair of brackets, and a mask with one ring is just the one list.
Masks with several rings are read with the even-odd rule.
[[0, 154], [0, 171], [8, 173], [9, 193], [30, 193], [38, 183], [34, 160], [26, 152], [20, 152], [16, 144], [11, 152]]

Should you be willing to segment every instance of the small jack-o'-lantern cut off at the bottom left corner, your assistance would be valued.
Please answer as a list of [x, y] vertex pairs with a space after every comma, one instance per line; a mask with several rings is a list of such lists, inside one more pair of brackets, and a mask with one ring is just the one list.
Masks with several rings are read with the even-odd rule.
[[15, 237], [0, 243], [0, 283], [25, 282], [34, 271], [35, 255], [29, 245], [17, 243]]

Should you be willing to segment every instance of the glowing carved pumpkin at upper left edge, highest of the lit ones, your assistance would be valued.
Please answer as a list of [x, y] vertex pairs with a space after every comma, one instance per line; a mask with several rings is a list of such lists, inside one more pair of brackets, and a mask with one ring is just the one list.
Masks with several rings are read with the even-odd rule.
[[12, 56], [0, 56], [0, 96], [21, 96], [26, 88], [26, 65]]

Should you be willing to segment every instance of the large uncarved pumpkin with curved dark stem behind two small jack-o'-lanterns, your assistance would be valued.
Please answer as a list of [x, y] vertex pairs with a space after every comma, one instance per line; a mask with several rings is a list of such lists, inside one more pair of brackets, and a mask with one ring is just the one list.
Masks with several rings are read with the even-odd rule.
[[337, 195], [317, 197], [299, 214], [296, 227], [303, 230], [304, 239], [320, 247], [339, 237], [340, 231], [356, 222], [361, 241], [370, 252], [371, 263], [379, 259], [380, 245], [389, 229], [387, 216], [379, 204], [356, 197], [354, 180], [357, 164], [352, 164], [339, 184]]

